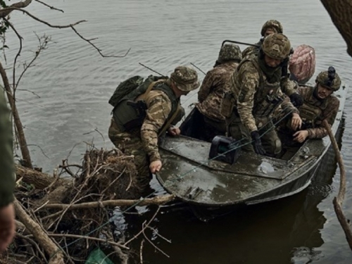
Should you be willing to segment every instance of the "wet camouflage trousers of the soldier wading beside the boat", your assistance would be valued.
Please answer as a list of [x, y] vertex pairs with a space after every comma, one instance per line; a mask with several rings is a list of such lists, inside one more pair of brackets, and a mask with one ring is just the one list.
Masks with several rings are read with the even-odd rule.
[[121, 132], [116, 122], [111, 118], [108, 137], [122, 153], [134, 156], [134, 165], [137, 168], [137, 184], [141, 191], [149, 187], [152, 175], [149, 170], [149, 158], [142, 145], [139, 130]]

